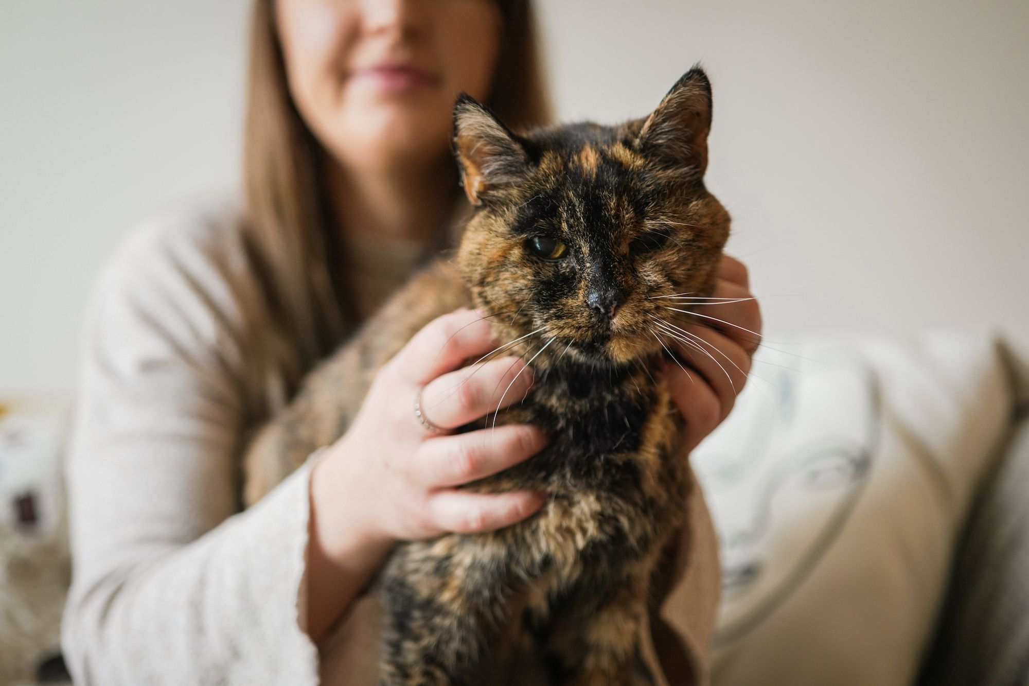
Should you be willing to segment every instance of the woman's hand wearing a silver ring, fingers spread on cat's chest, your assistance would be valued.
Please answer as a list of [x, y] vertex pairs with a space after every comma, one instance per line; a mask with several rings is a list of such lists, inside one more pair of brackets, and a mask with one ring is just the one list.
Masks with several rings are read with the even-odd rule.
[[518, 357], [460, 369], [497, 345], [490, 322], [462, 309], [428, 323], [379, 371], [350, 430], [316, 467], [313, 488], [331, 489], [324, 496], [336, 502], [328, 507], [345, 529], [339, 541], [328, 535], [329, 550], [346, 549], [355, 534], [392, 545], [447, 531], [492, 530], [543, 505], [543, 493], [457, 488], [537, 453], [546, 445], [539, 428], [498, 425], [449, 436], [427, 430], [415, 416], [420, 389], [423, 416], [443, 430], [497, 410], [508, 385], [503, 406], [524, 398], [532, 373]]

